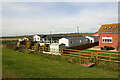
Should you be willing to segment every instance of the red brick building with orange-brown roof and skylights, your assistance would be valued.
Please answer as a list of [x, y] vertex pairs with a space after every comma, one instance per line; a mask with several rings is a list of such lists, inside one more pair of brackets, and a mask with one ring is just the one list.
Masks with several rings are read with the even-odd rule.
[[99, 48], [110, 46], [120, 49], [120, 23], [104, 24], [98, 30]]

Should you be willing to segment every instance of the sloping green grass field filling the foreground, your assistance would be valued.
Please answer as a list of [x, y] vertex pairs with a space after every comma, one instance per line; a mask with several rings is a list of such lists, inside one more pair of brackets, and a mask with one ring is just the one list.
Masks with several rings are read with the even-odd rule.
[[118, 71], [88, 68], [3, 48], [2, 75], [3, 78], [117, 78]]

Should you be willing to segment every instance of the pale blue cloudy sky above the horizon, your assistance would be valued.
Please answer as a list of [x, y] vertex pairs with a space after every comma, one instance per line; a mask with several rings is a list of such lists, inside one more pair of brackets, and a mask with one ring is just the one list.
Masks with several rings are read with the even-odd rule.
[[4, 2], [2, 36], [96, 32], [118, 21], [117, 2]]

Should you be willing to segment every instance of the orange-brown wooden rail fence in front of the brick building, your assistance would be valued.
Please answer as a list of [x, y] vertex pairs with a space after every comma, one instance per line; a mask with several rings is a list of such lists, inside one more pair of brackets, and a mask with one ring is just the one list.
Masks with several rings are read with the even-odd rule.
[[120, 63], [120, 54], [118, 53], [106, 53], [106, 52], [92, 52], [75, 49], [62, 49], [62, 56], [76, 56], [80, 58], [95, 58], [96, 60], [117, 62]]

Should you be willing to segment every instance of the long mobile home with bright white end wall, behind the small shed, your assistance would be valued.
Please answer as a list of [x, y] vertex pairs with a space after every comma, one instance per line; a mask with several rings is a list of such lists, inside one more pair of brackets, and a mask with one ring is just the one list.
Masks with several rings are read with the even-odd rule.
[[59, 44], [65, 44], [67, 47], [79, 46], [88, 43], [85, 37], [66, 37], [59, 39]]

